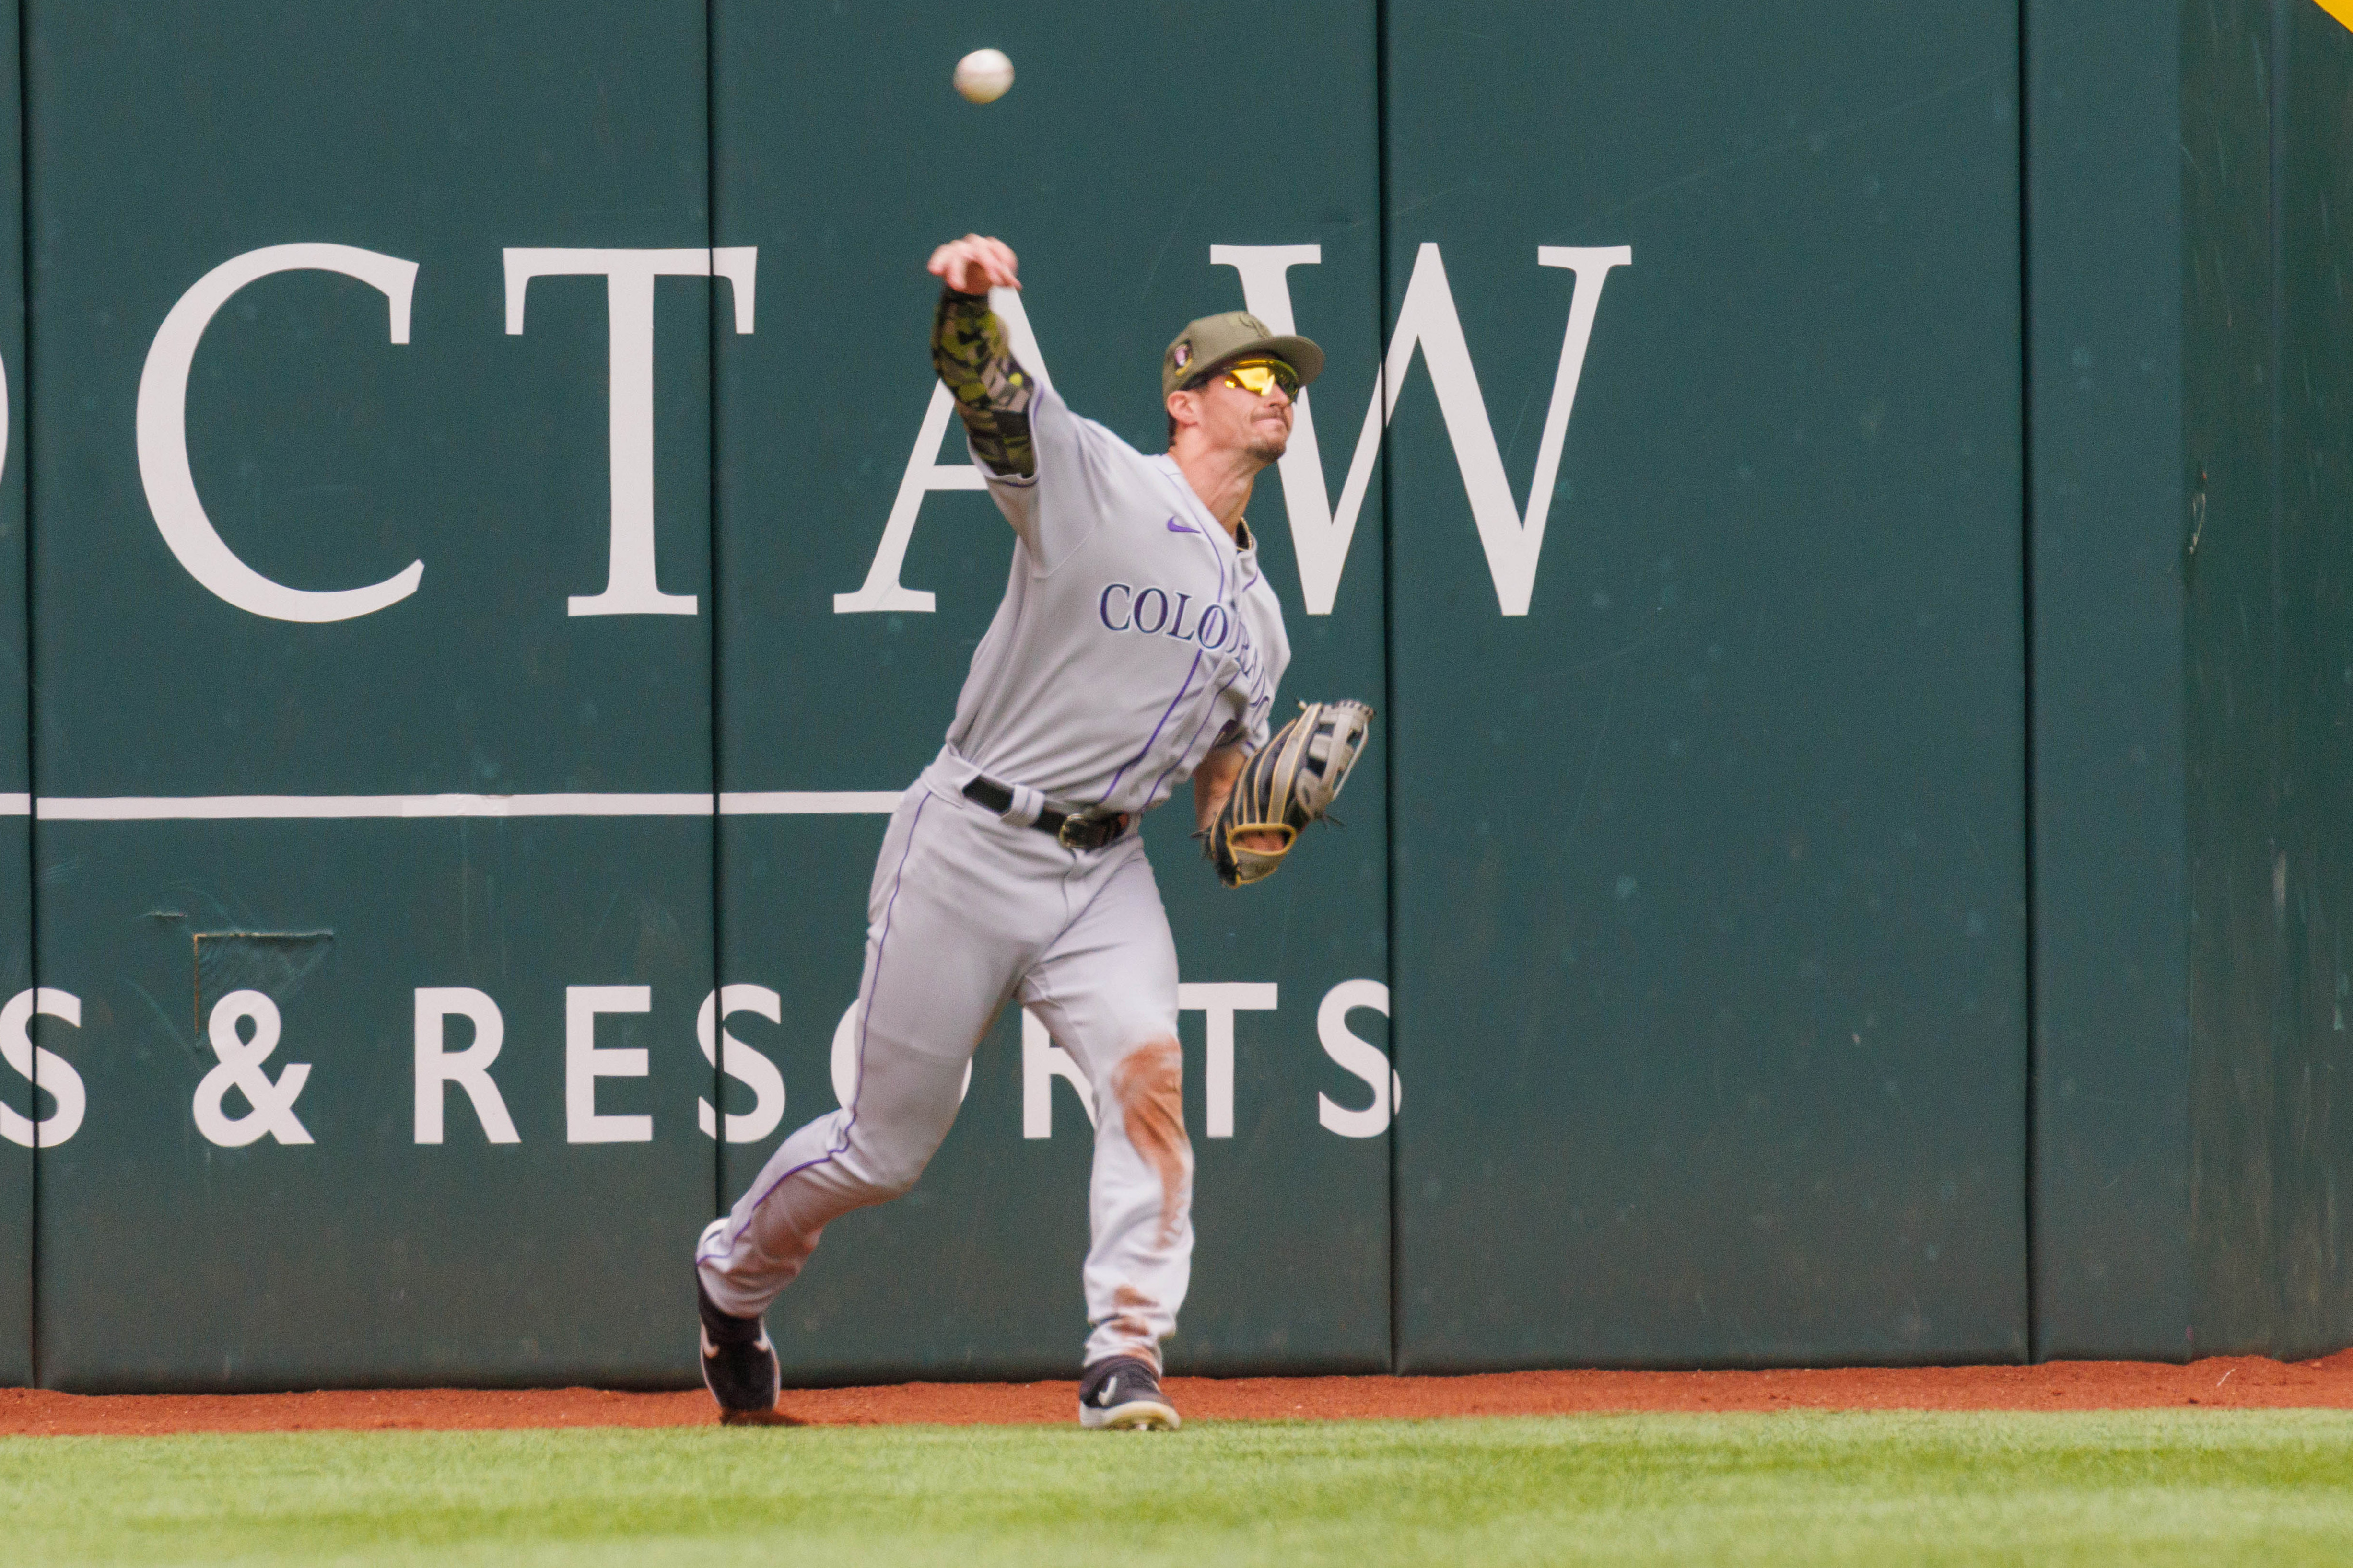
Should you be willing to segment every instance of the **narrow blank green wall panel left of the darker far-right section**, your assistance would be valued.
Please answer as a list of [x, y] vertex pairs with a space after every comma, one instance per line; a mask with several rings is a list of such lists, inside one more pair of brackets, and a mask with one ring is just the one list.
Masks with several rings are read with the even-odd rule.
[[[2308, 0], [2306, 0], [2308, 5]], [[2184, 80], [2200, 7], [2026, 7], [2033, 1321], [2193, 1349]]]

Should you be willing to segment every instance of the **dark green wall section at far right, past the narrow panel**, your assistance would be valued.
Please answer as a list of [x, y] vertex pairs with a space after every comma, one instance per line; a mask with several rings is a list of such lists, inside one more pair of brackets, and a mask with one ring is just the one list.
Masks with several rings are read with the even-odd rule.
[[2353, 1338], [2353, 52], [2318, 7], [2184, 28], [2191, 1319], [2200, 1347]]

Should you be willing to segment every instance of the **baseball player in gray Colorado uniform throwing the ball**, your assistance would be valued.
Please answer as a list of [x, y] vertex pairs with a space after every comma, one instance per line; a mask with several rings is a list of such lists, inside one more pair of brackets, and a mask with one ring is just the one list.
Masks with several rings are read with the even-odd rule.
[[1242, 520], [1322, 350], [1240, 310], [1160, 364], [1167, 456], [1073, 414], [1007, 350], [998, 240], [941, 244], [932, 364], [1014, 529], [1005, 602], [939, 757], [899, 799], [866, 896], [856, 1086], [776, 1152], [694, 1251], [704, 1382], [722, 1422], [784, 1422], [762, 1314], [835, 1218], [906, 1192], [948, 1133], [1005, 1001], [1094, 1088], [1082, 1427], [1174, 1429], [1160, 1340], [1193, 1262], [1176, 945], [1139, 818], [1193, 780], [1228, 884], [1273, 872], [1346, 780], [1372, 712], [1268, 736], [1289, 663]]

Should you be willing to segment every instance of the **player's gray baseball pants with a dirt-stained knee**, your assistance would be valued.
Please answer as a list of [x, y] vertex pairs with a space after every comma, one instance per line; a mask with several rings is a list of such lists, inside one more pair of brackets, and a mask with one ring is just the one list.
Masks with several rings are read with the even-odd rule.
[[901, 797], [866, 898], [859, 1074], [696, 1248], [722, 1312], [758, 1316], [826, 1225], [915, 1185], [955, 1121], [965, 1065], [1007, 1001], [1094, 1086], [1085, 1361], [1160, 1366], [1193, 1272], [1193, 1145], [1176, 1046], [1176, 943], [1129, 830], [1073, 851], [960, 795], [944, 752]]

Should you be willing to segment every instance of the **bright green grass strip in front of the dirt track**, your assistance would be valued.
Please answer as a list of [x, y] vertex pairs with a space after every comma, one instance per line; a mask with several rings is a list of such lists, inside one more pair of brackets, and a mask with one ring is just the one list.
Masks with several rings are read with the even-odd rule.
[[0, 1439], [0, 1561], [2282, 1568], [2353, 1413]]

